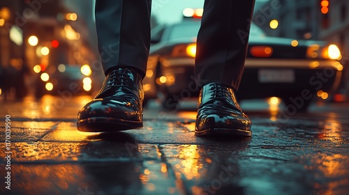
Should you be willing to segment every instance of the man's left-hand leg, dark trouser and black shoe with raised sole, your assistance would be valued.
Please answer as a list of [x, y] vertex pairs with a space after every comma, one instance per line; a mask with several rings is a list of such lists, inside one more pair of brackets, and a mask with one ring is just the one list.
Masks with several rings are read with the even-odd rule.
[[97, 0], [98, 49], [105, 81], [77, 114], [77, 130], [110, 132], [142, 127], [150, 45], [150, 0]]

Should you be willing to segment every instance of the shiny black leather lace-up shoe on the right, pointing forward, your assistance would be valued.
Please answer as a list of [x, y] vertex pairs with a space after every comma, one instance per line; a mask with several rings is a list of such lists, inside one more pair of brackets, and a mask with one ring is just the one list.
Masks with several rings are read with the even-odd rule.
[[251, 120], [242, 112], [232, 88], [207, 84], [199, 95], [195, 135], [226, 134], [251, 137]]

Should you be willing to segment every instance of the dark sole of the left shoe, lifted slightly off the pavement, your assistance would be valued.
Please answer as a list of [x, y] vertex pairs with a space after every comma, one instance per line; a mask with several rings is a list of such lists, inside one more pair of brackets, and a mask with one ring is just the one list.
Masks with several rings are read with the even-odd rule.
[[77, 121], [77, 130], [80, 132], [119, 132], [140, 127], [143, 127], [142, 121], [107, 117], [93, 117]]

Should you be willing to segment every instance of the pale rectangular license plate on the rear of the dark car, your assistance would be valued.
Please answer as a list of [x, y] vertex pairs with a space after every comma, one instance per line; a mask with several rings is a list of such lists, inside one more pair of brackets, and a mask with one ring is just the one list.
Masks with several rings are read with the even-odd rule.
[[260, 83], [293, 83], [295, 82], [295, 70], [258, 70]]

